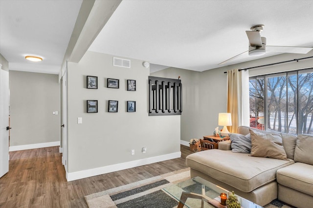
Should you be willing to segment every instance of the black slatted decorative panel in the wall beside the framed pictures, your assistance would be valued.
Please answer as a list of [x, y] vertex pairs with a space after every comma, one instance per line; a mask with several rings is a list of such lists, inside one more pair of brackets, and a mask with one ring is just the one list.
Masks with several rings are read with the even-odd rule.
[[180, 79], [149, 76], [149, 115], [181, 115]]

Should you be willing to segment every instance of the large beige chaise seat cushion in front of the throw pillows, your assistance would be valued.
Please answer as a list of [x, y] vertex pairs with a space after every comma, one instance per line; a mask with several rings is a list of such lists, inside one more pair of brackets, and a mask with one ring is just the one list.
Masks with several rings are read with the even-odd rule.
[[229, 186], [250, 192], [276, 180], [276, 170], [294, 163], [248, 155], [224, 150], [200, 151], [188, 155], [186, 164]]

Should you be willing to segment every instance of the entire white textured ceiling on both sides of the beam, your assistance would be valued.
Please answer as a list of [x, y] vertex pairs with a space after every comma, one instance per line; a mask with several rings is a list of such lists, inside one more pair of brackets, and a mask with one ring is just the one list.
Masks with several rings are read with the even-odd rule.
[[[81, 5], [0, 0], [0, 53], [10, 70], [58, 74]], [[313, 47], [313, 0], [123, 0], [89, 50], [204, 71], [247, 51], [245, 31], [255, 24], [265, 25], [268, 45]], [[261, 57], [227, 65], [253, 58]]]

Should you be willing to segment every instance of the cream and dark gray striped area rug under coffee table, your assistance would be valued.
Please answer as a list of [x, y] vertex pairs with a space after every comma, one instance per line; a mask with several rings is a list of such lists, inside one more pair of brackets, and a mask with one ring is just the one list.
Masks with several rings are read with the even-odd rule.
[[[90, 194], [85, 199], [89, 208], [177, 208], [178, 201], [162, 189], [188, 179], [189, 168]], [[274, 200], [264, 208], [291, 207]]]

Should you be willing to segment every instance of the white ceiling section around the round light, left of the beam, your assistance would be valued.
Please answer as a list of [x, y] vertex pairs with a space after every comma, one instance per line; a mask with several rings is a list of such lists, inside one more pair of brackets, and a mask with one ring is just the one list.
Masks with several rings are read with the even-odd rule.
[[[10, 70], [58, 74], [82, 0], [0, 0], [0, 53]], [[43, 57], [31, 62], [25, 55]]]

